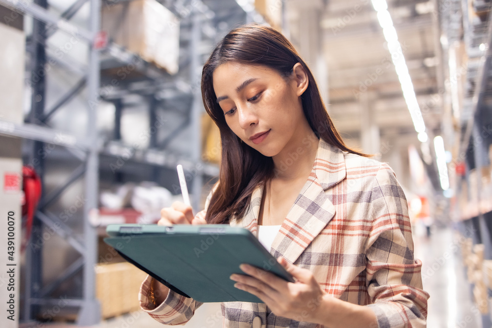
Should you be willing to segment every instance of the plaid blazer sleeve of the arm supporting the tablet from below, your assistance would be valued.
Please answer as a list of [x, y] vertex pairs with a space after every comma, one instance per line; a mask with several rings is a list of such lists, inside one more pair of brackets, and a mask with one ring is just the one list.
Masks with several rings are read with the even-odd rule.
[[367, 245], [367, 284], [379, 328], [427, 327], [422, 262], [413, 257], [408, 203], [393, 170], [381, 163], [370, 190], [372, 229]]

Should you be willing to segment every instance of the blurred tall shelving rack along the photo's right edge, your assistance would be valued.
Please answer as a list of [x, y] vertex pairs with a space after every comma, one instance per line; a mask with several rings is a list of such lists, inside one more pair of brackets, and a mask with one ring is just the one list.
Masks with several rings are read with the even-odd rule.
[[[456, 175], [455, 198], [463, 199], [466, 208], [456, 208], [454, 219], [460, 232], [473, 240], [473, 244], [484, 245], [484, 259], [492, 259], [492, 212], [481, 207], [492, 195], [482, 194], [481, 169], [490, 165], [487, 156], [492, 135], [483, 132], [483, 127], [492, 123], [492, 12], [491, 1], [451, 0], [440, 1], [443, 10], [442, 30], [446, 32], [449, 44], [462, 41], [468, 58], [465, 86], [463, 90], [460, 117], [456, 120], [455, 158], [451, 169], [464, 165], [464, 175]], [[471, 13], [470, 8], [474, 11]], [[475, 16], [475, 13], [480, 15]], [[481, 17], [479, 17], [481, 16]], [[471, 21], [471, 22], [470, 22]], [[457, 67], [460, 69], [460, 67]], [[489, 125], [490, 126], [490, 125]], [[475, 170], [476, 184], [469, 183], [470, 172]], [[464, 180], [465, 179], [465, 180]], [[466, 181], [466, 189], [461, 183]], [[473, 190], [470, 190], [473, 188]], [[471, 194], [476, 195], [472, 199]], [[474, 203], [476, 202], [476, 203]], [[470, 205], [473, 204], [473, 205]], [[491, 291], [489, 290], [490, 297]], [[482, 315], [483, 327], [491, 327], [490, 315]]]

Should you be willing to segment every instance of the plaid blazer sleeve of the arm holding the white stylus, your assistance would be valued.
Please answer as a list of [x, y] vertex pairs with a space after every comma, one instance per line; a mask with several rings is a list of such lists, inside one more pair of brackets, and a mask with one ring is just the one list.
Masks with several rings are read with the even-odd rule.
[[[212, 193], [215, 191], [217, 184], [215, 184], [212, 191], [205, 200], [205, 209], [199, 211], [195, 217], [205, 218], [206, 210], [210, 204]], [[140, 307], [143, 311], [149, 313], [149, 315], [156, 321], [165, 325], [184, 325], [195, 314], [195, 310], [203, 303], [193, 298], [186, 298], [176, 292], [169, 291], [167, 298], [159, 306], [154, 308], [154, 304], [150, 300], [150, 282], [151, 276], [142, 282], [140, 286], [140, 292], [138, 299], [140, 301]]]

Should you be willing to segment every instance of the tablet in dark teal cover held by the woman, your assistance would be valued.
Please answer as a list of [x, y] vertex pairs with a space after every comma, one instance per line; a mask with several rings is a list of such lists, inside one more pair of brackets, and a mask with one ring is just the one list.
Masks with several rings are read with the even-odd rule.
[[294, 282], [249, 230], [227, 224], [108, 225], [106, 243], [125, 260], [171, 290], [201, 302], [245, 301], [256, 296], [234, 287], [232, 273], [250, 264]]

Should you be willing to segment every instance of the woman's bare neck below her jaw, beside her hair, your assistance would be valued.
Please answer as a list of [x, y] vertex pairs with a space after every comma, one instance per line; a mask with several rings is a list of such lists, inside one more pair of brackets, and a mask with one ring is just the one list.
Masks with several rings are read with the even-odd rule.
[[273, 156], [274, 179], [306, 179], [312, 170], [319, 139], [309, 128], [302, 137], [291, 140], [284, 149]]

